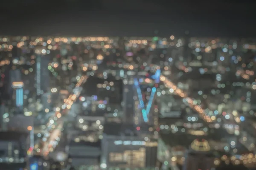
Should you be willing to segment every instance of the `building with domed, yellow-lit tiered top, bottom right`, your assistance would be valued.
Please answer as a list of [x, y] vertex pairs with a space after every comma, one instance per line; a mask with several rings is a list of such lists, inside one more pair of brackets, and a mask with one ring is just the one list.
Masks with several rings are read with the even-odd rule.
[[214, 155], [210, 152], [207, 140], [195, 139], [186, 152], [186, 161], [183, 170], [211, 170]]

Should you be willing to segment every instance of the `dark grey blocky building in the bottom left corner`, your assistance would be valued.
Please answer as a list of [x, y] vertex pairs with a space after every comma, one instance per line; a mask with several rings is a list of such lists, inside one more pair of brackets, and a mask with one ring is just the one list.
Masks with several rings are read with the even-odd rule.
[[[8, 116], [8, 113], [5, 113]], [[7, 117], [5, 116], [5, 117]], [[7, 118], [6, 118], [7, 119]], [[26, 166], [25, 161], [32, 154], [34, 148], [33, 117], [14, 115], [8, 117], [7, 131], [0, 136], [0, 167], [1, 163], [16, 164], [20, 167], [6, 169], [20, 169]]]

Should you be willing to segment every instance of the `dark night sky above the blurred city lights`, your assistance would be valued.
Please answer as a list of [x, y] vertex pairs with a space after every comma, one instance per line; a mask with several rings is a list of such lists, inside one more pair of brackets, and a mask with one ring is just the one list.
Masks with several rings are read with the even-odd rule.
[[[223, 2], [224, 1], [224, 2]], [[1, 34], [255, 37], [253, 0], [8, 0]]]

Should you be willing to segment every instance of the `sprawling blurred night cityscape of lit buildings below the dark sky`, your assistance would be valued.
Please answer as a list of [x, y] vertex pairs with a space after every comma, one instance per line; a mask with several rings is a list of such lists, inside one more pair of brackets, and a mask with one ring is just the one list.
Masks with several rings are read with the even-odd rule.
[[[254, 158], [244, 156], [255, 150], [252, 42], [0, 37], [0, 125], [10, 138], [19, 134], [0, 139], [0, 163], [30, 160], [31, 170], [253, 167]], [[78, 87], [81, 75], [90, 78]], [[44, 139], [55, 141], [49, 150], [56, 154], [41, 152]]]

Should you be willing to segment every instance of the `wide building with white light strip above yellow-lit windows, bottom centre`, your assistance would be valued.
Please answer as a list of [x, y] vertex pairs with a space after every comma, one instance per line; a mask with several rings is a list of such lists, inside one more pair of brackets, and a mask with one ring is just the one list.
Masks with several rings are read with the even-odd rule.
[[137, 136], [136, 131], [132, 130], [133, 125], [129, 127], [120, 124], [105, 125], [102, 139], [102, 168], [133, 169], [156, 166], [157, 141], [145, 141], [143, 137]]

